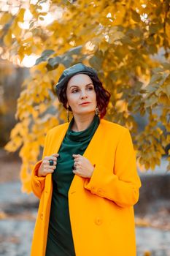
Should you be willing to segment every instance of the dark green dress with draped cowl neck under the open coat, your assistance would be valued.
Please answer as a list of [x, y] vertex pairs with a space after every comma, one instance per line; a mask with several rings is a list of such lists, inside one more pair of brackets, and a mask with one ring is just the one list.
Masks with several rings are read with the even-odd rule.
[[53, 195], [50, 208], [46, 256], [75, 256], [68, 203], [69, 187], [75, 175], [72, 172], [72, 168], [74, 167], [74, 157], [72, 157], [72, 154], [84, 154], [85, 149], [96, 132], [100, 118], [95, 115], [90, 126], [81, 132], [72, 131], [73, 122], [74, 117], [61, 143], [58, 151], [60, 157], [58, 157], [57, 167], [52, 174]]

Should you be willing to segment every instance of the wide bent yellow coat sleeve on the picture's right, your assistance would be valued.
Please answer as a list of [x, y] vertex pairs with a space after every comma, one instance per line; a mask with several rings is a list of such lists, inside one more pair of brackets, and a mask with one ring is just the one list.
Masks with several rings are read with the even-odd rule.
[[91, 178], [85, 179], [85, 189], [114, 201], [120, 207], [136, 204], [142, 184], [136, 170], [136, 154], [131, 134], [126, 128], [117, 143], [115, 166], [109, 173], [108, 175], [106, 167], [96, 164]]

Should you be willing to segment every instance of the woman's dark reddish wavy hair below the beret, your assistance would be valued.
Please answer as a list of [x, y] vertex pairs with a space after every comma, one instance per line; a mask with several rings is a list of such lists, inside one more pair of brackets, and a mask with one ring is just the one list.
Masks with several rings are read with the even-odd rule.
[[[91, 80], [93, 81], [93, 86], [94, 90], [96, 91], [96, 101], [98, 105], [98, 109], [100, 111], [100, 118], [104, 118], [104, 116], [107, 113], [107, 105], [109, 104], [109, 98], [111, 97], [111, 94], [109, 91], [104, 89], [101, 80], [98, 79], [96, 75], [88, 75]], [[67, 82], [68, 84], [68, 82]], [[60, 92], [60, 102], [63, 103], [63, 107], [66, 108], [66, 102], [67, 102], [67, 97], [66, 97], [66, 86], [63, 86]], [[72, 111], [72, 109], [69, 106], [69, 111]]]

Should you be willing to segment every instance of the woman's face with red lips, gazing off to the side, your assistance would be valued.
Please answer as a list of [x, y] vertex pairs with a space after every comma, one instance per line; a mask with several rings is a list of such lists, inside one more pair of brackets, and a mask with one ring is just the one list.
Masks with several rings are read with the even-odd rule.
[[[93, 113], [96, 109], [96, 91], [88, 75], [77, 74], [70, 78], [67, 84], [66, 97], [67, 107], [72, 108], [73, 115]], [[82, 104], [84, 102], [88, 103]]]

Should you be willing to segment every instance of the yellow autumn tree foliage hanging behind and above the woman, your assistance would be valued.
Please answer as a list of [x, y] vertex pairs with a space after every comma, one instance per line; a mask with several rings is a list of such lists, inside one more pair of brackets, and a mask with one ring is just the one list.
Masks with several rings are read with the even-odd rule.
[[[31, 53], [39, 56], [23, 83], [18, 124], [5, 146], [20, 148], [23, 191], [31, 191], [31, 168], [41, 157], [45, 133], [66, 121], [54, 85], [63, 69], [78, 62], [94, 67], [111, 92], [105, 118], [131, 130], [138, 166], [154, 170], [165, 154], [170, 162], [169, 1], [50, 1], [46, 10], [45, 3], [30, 1], [15, 15], [1, 12], [3, 53], [19, 61]], [[49, 13], [53, 21], [45, 23]], [[136, 115], [148, 117], [142, 131]]]

